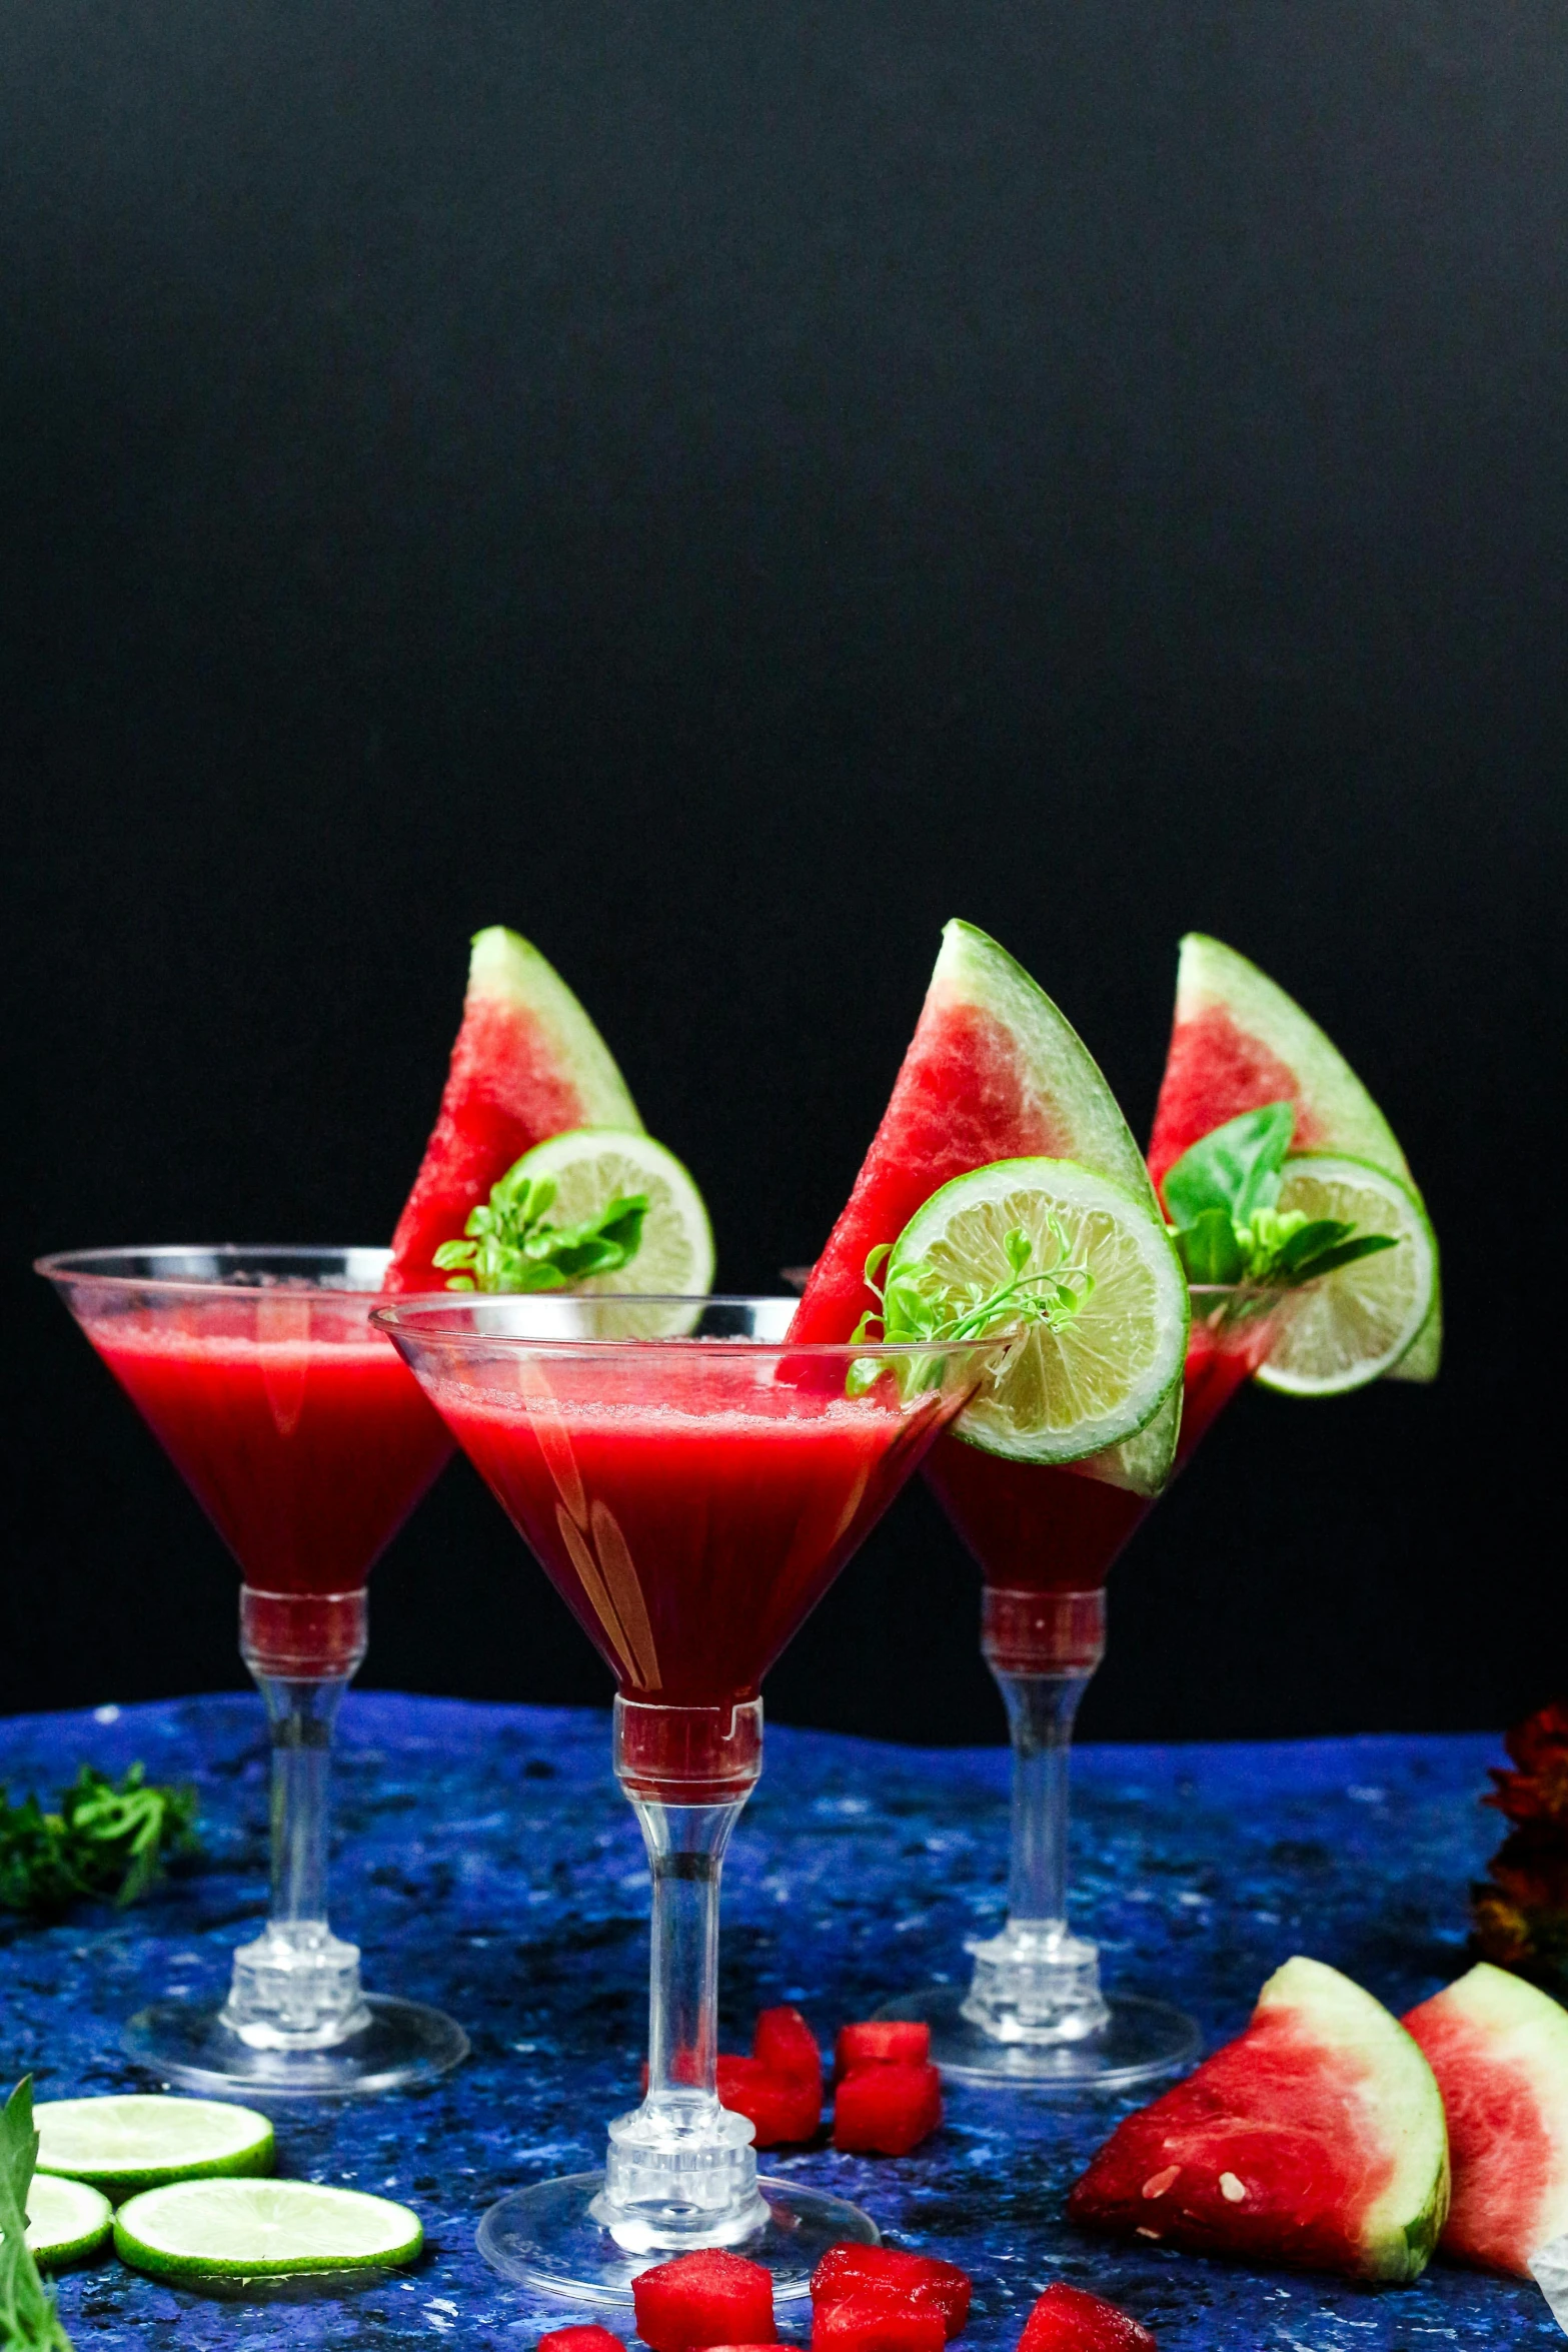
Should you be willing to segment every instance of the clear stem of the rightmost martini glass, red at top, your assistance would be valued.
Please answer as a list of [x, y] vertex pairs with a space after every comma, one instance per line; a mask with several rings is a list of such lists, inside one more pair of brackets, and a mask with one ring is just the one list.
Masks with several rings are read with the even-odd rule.
[[1093, 1943], [1067, 1931], [1067, 1788], [1072, 1724], [1105, 1656], [1105, 1592], [987, 1588], [980, 1646], [1013, 1740], [1013, 1844], [1006, 1926], [971, 1945], [964, 2016], [999, 2042], [1081, 2039], [1110, 2011]]

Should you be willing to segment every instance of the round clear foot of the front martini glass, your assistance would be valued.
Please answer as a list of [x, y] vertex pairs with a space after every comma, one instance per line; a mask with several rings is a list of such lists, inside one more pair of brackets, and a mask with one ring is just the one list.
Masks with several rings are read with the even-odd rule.
[[592, 2204], [604, 2192], [604, 2173], [567, 2173], [531, 2190], [512, 2190], [494, 2204], [480, 2223], [480, 2253], [503, 2279], [534, 2286], [562, 2303], [630, 2307], [632, 2279], [639, 2272], [703, 2244], [722, 2244], [729, 2253], [743, 2253], [748, 2263], [771, 2270], [778, 2303], [797, 2303], [806, 2293], [811, 2272], [830, 2246], [842, 2246], [844, 2239], [858, 2246], [877, 2244], [877, 2223], [842, 2197], [809, 2190], [799, 2180], [759, 2180], [757, 2187], [766, 2220], [748, 2237], [712, 2232], [693, 2237], [686, 2249], [658, 2246], [632, 2253], [595, 2220]]

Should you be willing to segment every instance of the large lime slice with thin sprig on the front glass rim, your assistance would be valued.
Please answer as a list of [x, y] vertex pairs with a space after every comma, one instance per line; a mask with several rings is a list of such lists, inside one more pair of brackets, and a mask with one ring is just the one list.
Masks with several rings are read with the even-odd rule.
[[[1164, 1221], [1110, 1176], [1072, 1160], [997, 1160], [954, 1176], [917, 1209], [893, 1247], [893, 1265], [926, 1261], [954, 1294], [1011, 1279], [1006, 1235], [1027, 1232], [1027, 1272], [1065, 1261], [1093, 1275], [1079, 1312], [1051, 1331], [1030, 1324], [999, 1371], [964, 1409], [957, 1435], [985, 1454], [1025, 1463], [1072, 1463], [1154, 1423], [1182, 1376], [1187, 1279]], [[1166, 1461], [1140, 1465], [1164, 1479], [1178, 1416], [1166, 1416]]]

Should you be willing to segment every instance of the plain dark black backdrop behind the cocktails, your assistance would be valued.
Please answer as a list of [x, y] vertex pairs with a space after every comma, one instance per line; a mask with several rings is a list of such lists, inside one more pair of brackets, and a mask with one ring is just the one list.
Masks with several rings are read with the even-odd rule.
[[[5, 14], [0, 1705], [240, 1675], [35, 1249], [390, 1232], [505, 920], [769, 1284], [950, 913], [1138, 1129], [1253, 953], [1448, 1249], [1439, 1388], [1244, 1397], [1086, 1726], [1547, 1696], [1566, 113], [1554, 0]], [[912, 1494], [771, 1703], [990, 1736], [973, 1611]], [[465, 1470], [367, 1672], [604, 1693]]]

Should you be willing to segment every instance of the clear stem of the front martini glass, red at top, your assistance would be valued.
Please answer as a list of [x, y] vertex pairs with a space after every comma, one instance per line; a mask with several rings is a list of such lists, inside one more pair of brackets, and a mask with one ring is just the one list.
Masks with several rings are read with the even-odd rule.
[[719, 2105], [719, 1872], [762, 1771], [762, 1703], [616, 1700], [616, 1776], [654, 1877], [649, 2089], [609, 2126], [592, 2204], [632, 2253], [726, 2246], [766, 2216], [752, 2126]]

